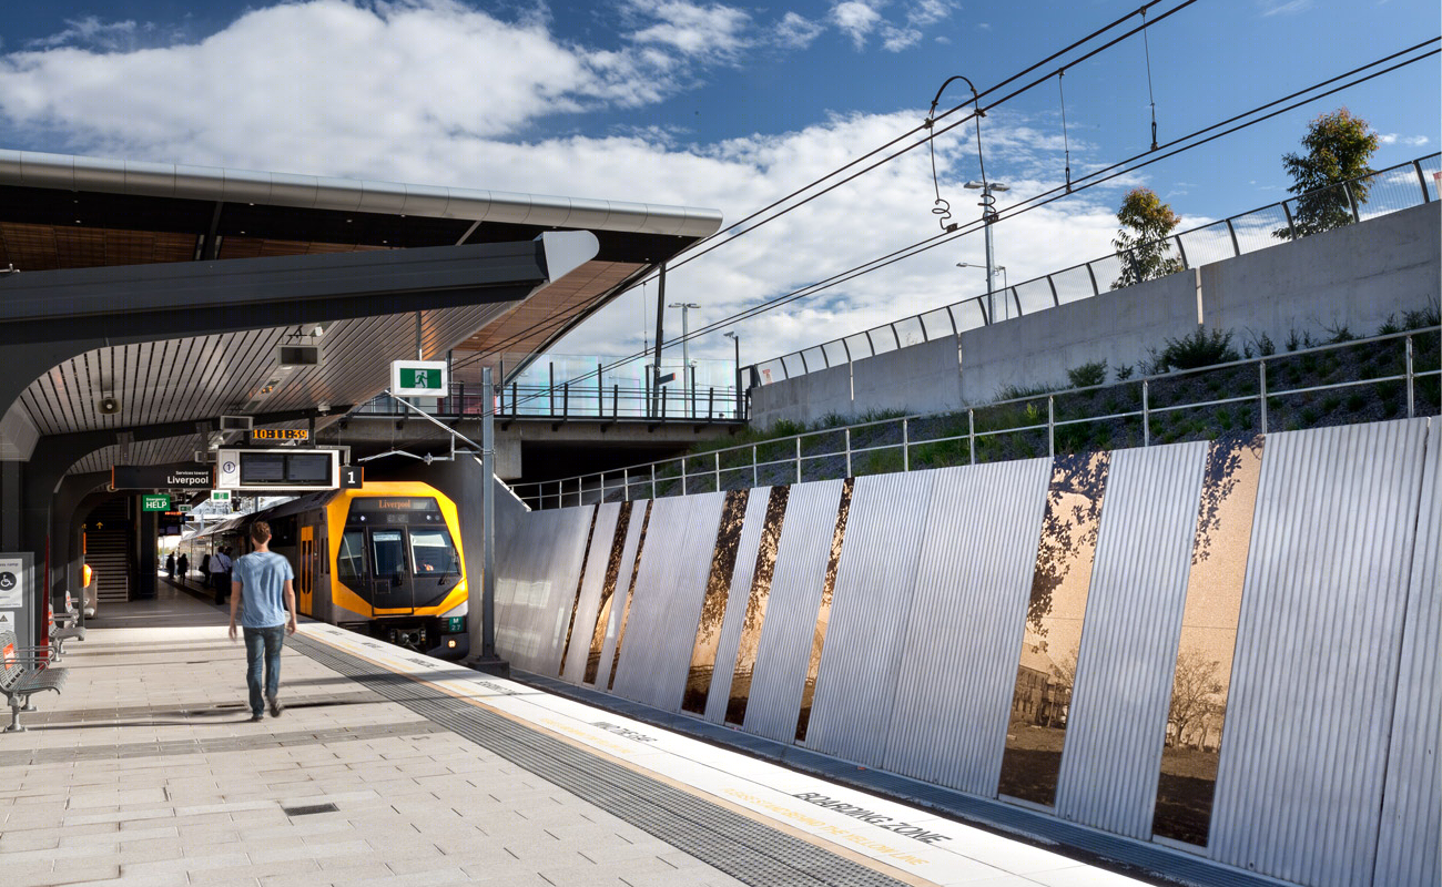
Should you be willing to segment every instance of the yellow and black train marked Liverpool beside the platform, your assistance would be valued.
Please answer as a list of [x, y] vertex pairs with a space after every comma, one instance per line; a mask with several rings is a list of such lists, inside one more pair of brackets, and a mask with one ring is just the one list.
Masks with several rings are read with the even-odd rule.
[[466, 558], [456, 503], [417, 482], [366, 482], [224, 521], [180, 542], [192, 570], [206, 554], [251, 550], [249, 526], [271, 525], [271, 551], [296, 570], [303, 616], [414, 650], [461, 658]]

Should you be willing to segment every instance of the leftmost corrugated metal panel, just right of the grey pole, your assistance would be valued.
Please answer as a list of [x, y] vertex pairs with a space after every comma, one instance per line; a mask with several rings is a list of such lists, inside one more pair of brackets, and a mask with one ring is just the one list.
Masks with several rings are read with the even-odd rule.
[[532, 512], [496, 557], [496, 648], [516, 668], [555, 674], [596, 506]]

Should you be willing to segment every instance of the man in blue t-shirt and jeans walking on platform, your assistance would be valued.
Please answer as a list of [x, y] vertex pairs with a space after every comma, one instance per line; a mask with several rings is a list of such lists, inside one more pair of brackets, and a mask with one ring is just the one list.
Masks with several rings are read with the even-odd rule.
[[[251, 691], [251, 721], [264, 717], [270, 702], [271, 717], [278, 718], [280, 648], [286, 635], [296, 633], [296, 573], [290, 561], [270, 550], [270, 524], [251, 524], [255, 551], [235, 561], [231, 581], [231, 640], [235, 640], [235, 613], [245, 629], [245, 684]], [[261, 653], [265, 658], [265, 695], [261, 697]]]

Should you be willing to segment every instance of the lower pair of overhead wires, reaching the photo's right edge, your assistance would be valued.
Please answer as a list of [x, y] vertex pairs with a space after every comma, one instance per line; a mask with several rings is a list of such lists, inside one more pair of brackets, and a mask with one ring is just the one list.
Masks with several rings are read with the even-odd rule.
[[[1430, 52], [1426, 52], [1426, 53], [1422, 53], [1422, 55], [1405, 59], [1402, 62], [1397, 62], [1397, 63], [1390, 65], [1387, 68], [1383, 68], [1380, 71], [1374, 71], [1374, 72], [1367, 74], [1364, 76], [1358, 76], [1354, 81], [1350, 81], [1350, 82], [1345, 82], [1345, 84], [1340, 84], [1340, 85], [1337, 85], [1337, 87], [1334, 87], [1331, 89], [1327, 89], [1324, 92], [1318, 92], [1315, 95], [1306, 95], [1309, 92], [1314, 92], [1314, 91], [1319, 89], [1321, 87], [1337, 84], [1338, 81], [1345, 79], [1348, 76], [1353, 76], [1355, 74], [1360, 74], [1361, 71], [1367, 71], [1368, 68], [1374, 68], [1377, 65], [1386, 63], [1389, 61], [1397, 59], [1397, 58], [1400, 58], [1403, 55], [1407, 55], [1410, 52], [1416, 52], [1417, 49], [1422, 49], [1422, 48], [1428, 46], [1428, 45], [1439, 43], [1439, 42], [1442, 42], [1442, 36], [1432, 37], [1429, 40], [1423, 40], [1422, 43], [1417, 43], [1417, 45], [1410, 46], [1407, 49], [1394, 52], [1394, 53], [1392, 53], [1389, 56], [1384, 56], [1381, 59], [1377, 59], [1374, 62], [1368, 62], [1368, 63], [1361, 65], [1358, 68], [1354, 68], [1354, 69], [1351, 69], [1351, 71], [1348, 71], [1345, 74], [1340, 74], [1340, 75], [1328, 78], [1325, 81], [1319, 81], [1319, 82], [1317, 82], [1317, 84], [1314, 84], [1311, 87], [1306, 87], [1304, 89], [1298, 89], [1298, 91], [1295, 91], [1295, 92], [1292, 92], [1289, 95], [1285, 95], [1282, 98], [1278, 98], [1278, 100], [1273, 100], [1270, 102], [1257, 105], [1256, 108], [1252, 108], [1249, 111], [1243, 111], [1240, 114], [1234, 114], [1233, 117], [1229, 117], [1227, 120], [1214, 123], [1211, 125], [1207, 125], [1207, 127], [1203, 127], [1200, 130], [1195, 130], [1195, 131], [1193, 131], [1193, 133], [1190, 133], [1187, 136], [1181, 136], [1178, 138], [1174, 138], [1172, 141], [1168, 141], [1165, 144], [1158, 146], [1158, 150], [1162, 150], [1165, 153], [1156, 154], [1155, 151], [1152, 151], [1151, 149], [1148, 149], [1146, 151], [1142, 151], [1142, 153], [1133, 154], [1132, 157], [1128, 157], [1125, 160], [1119, 160], [1116, 163], [1112, 163], [1110, 166], [1102, 167], [1099, 170], [1087, 173], [1082, 179], [1077, 179], [1073, 183], [1073, 189], [1071, 190], [1067, 190], [1066, 186], [1057, 186], [1057, 187], [1053, 187], [1050, 190], [1045, 190], [1045, 192], [1041, 192], [1038, 195], [1034, 195], [1031, 198], [1027, 198], [1025, 200], [1021, 200], [1019, 203], [1014, 203], [1012, 206], [1007, 208], [1005, 212], [999, 213], [996, 221], [1009, 219], [1009, 218], [1014, 218], [1017, 215], [1022, 215], [1025, 212], [1031, 212], [1034, 209], [1040, 209], [1041, 206], [1045, 206], [1048, 203], [1053, 203], [1053, 202], [1056, 202], [1058, 199], [1066, 198], [1069, 193], [1074, 193], [1074, 192], [1079, 192], [1079, 190], [1086, 190], [1089, 187], [1100, 186], [1100, 185], [1106, 183], [1106, 182], [1110, 182], [1112, 179], [1116, 179], [1116, 177], [1123, 176], [1126, 173], [1135, 172], [1135, 170], [1142, 169], [1145, 166], [1151, 166], [1152, 163], [1159, 163], [1161, 160], [1167, 160], [1167, 159], [1174, 157], [1177, 154], [1181, 154], [1184, 151], [1194, 150], [1197, 147], [1201, 147], [1201, 146], [1204, 146], [1204, 144], [1207, 144], [1210, 141], [1216, 141], [1217, 138], [1221, 138], [1221, 137], [1229, 136], [1231, 133], [1237, 133], [1240, 130], [1249, 128], [1252, 125], [1256, 125], [1256, 124], [1260, 124], [1260, 123], [1263, 123], [1266, 120], [1278, 117], [1279, 114], [1285, 114], [1286, 111], [1299, 108], [1299, 107], [1311, 104], [1314, 101], [1319, 101], [1322, 98], [1327, 98], [1330, 95], [1341, 92], [1341, 91], [1348, 89], [1351, 87], [1364, 84], [1367, 81], [1376, 79], [1379, 76], [1383, 76], [1386, 74], [1390, 74], [1390, 72], [1397, 71], [1400, 68], [1405, 68], [1407, 65], [1413, 65], [1416, 62], [1420, 62], [1420, 61], [1425, 61], [1428, 58], [1436, 56], [1436, 55], [1442, 53], [1442, 49], [1432, 49]], [[1302, 100], [1299, 100], [1296, 102], [1292, 102], [1292, 104], [1286, 104], [1283, 107], [1276, 107], [1276, 105], [1280, 105], [1282, 102], [1288, 102], [1288, 101], [1291, 101], [1293, 98], [1298, 98], [1298, 97], [1302, 97], [1302, 95], [1306, 95], [1306, 98], [1302, 98]], [[1214, 131], [1214, 130], [1218, 130], [1220, 127], [1226, 127], [1229, 124], [1242, 121], [1242, 120], [1244, 120], [1247, 117], [1252, 117], [1255, 114], [1260, 114], [1262, 111], [1266, 111], [1268, 108], [1273, 108], [1273, 110], [1270, 112], [1268, 112], [1268, 114], [1256, 117], [1255, 120], [1246, 120], [1244, 123], [1239, 123], [1237, 125], [1234, 125], [1231, 128], [1227, 128], [1227, 130], [1223, 130], [1223, 131]], [[1194, 138], [1198, 138], [1198, 137], [1201, 137], [1201, 136], [1204, 136], [1207, 133], [1211, 133], [1211, 136], [1207, 136], [1206, 138], [1200, 138], [1197, 141], [1193, 141]], [[1188, 144], [1182, 144], [1182, 143], [1188, 143]], [[1174, 149], [1174, 150], [1167, 150], [1167, 149]], [[1131, 164], [1131, 166], [1128, 166], [1128, 164]], [[823, 278], [823, 280], [816, 281], [813, 284], [808, 284], [805, 287], [799, 287], [796, 290], [792, 290], [789, 293], [783, 293], [780, 296], [774, 296], [774, 297], [771, 297], [771, 299], [769, 299], [769, 300], [766, 300], [766, 301], [763, 301], [760, 304], [756, 304], [756, 306], [751, 306], [751, 307], [744, 309], [741, 312], [737, 312], [737, 313], [734, 313], [734, 314], [731, 314], [728, 317], [724, 317], [721, 320], [709, 323], [709, 325], [707, 325], [704, 327], [699, 327], [696, 330], [691, 330], [691, 333], [688, 336], [685, 336], [685, 339], [689, 340], [689, 339], [695, 339], [698, 336], [704, 336], [704, 335], [717, 332], [722, 326], [728, 326], [728, 325], [737, 323], [740, 320], [747, 320], [750, 317], [756, 317], [758, 314], [763, 314], [766, 312], [774, 310], [777, 307], [782, 307], [782, 306], [789, 304], [792, 301], [796, 301], [799, 299], [805, 299], [808, 296], [815, 296], [816, 293], [820, 293], [820, 291], [829, 290], [832, 287], [841, 286], [842, 283], [848, 283], [848, 281], [855, 280], [858, 277], [862, 277], [865, 274], [871, 274], [871, 273], [880, 271], [881, 268], [885, 268], [885, 267], [893, 265], [895, 262], [900, 262], [903, 260], [907, 260], [907, 258], [911, 258], [914, 255], [920, 255], [921, 252], [934, 250], [936, 247], [940, 247], [942, 244], [946, 244], [946, 242], [950, 242], [950, 241], [953, 241], [956, 238], [960, 238], [960, 237], [965, 237], [968, 234], [973, 234], [976, 231], [981, 231], [982, 225], [983, 225], [983, 222], [976, 221], [976, 222], [968, 224], [968, 226], [965, 226], [965, 228], [962, 228], [962, 229], [959, 229], [956, 232], [936, 234], [936, 235], [932, 235], [932, 237], [924, 238], [921, 241], [916, 241], [916, 242], [913, 242], [913, 244], [910, 244], [907, 247], [903, 247], [900, 250], [895, 250], [893, 252], [888, 252], [885, 255], [874, 258], [874, 260], [871, 260], [868, 262], [862, 262], [861, 265], [855, 265], [852, 268], [848, 268], [845, 271], [833, 274], [832, 277]], [[678, 337], [678, 339], [671, 340], [669, 343], [675, 345], [679, 340], [681, 339]], [[645, 356], [645, 355], [637, 353], [637, 355], [630, 355], [630, 356], [613, 361], [610, 365], [606, 366], [606, 369], [614, 369], [617, 366], [622, 366], [624, 363], [629, 363], [629, 362], [634, 361], [639, 356]], [[590, 378], [590, 376], [587, 375], [587, 376], [581, 376], [581, 378], [584, 379], [584, 378]], [[529, 400], [535, 400], [538, 397], [541, 397], [541, 395], [539, 394], [529, 395], [526, 400], [529, 401]]]

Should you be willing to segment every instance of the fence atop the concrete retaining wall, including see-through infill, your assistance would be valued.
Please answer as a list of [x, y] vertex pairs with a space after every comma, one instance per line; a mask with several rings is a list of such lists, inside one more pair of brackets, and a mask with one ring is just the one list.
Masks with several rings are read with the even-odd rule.
[[[1252, 212], [1175, 234], [1164, 242], [1167, 258], [1194, 268], [1246, 252], [1308, 237], [1331, 228], [1371, 219], [1438, 199], [1442, 153], [1379, 170]], [[1054, 271], [930, 312], [832, 339], [812, 348], [754, 365], [763, 385], [829, 366], [845, 366], [908, 345], [988, 326], [1008, 317], [1032, 314], [1120, 288], [1129, 277], [1125, 258], [1116, 254]], [[998, 317], [992, 317], [992, 307]], [[748, 368], [750, 369], [750, 368]]]

